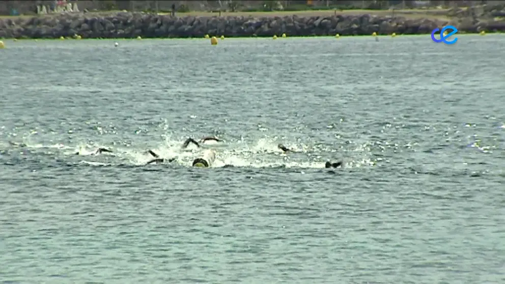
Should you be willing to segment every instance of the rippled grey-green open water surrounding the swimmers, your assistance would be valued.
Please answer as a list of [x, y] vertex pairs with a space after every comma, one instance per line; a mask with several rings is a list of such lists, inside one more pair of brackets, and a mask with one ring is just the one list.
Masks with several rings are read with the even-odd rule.
[[0, 50], [0, 280], [505, 281], [503, 36], [118, 42]]

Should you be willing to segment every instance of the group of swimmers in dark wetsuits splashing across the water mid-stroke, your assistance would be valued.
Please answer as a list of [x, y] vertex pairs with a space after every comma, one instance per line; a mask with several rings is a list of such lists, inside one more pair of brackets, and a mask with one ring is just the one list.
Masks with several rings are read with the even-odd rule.
[[[205, 143], [205, 141], [222, 142], [222, 140], [219, 139], [219, 138], [217, 138], [217, 137], [210, 137], [210, 136], [203, 137], [202, 139], [200, 139], [200, 141], [194, 140], [193, 138], [189, 137], [189, 138], [187, 138], [184, 141], [184, 143], [182, 144], [181, 148], [182, 149], [186, 149], [189, 146], [189, 144], [193, 144], [193, 145], [197, 146], [198, 148], [201, 148], [200, 144]], [[13, 142], [11, 142], [11, 145], [17, 146], [17, 147], [26, 147], [25, 144], [17, 144], [17, 143], [13, 143]], [[278, 144], [277, 148], [280, 149], [281, 151], [283, 151], [284, 153], [292, 152], [291, 149], [289, 149], [288, 147], [286, 147], [283, 144]], [[109, 150], [109, 149], [106, 149], [106, 148], [98, 148], [93, 153], [91, 153], [91, 155], [99, 155], [99, 154], [102, 154], [102, 153], [113, 153], [113, 151]], [[162, 157], [160, 157], [158, 154], [156, 154], [152, 150], [147, 150], [146, 153], [152, 156], [152, 159], [149, 160], [146, 163], [146, 165], [148, 165], [148, 164], [155, 164], [155, 163], [165, 163], [165, 162], [171, 163], [171, 162], [173, 162], [173, 161], [176, 160], [176, 157], [170, 158], [170, 159], [162, 158]], [[75, 153], [75, 155], [80, 155], [80, 154], [81, 154], [80, 152], [76, 152]], [[209, 166], [212, 165], [212, 163], [214, 162], [214, 160], [215, 160], [215, 151], [211, 150], [211, 149], [208, 149], [208, 150], [205, 150], [203, 153], [201, 153], [201, 155], [198, 158], [196, 158], [196, 159], [193, 160], [192, 166], [195, 166], [195, 167], [209, 167]], [[343, 161], [337, 161], [337, 162], [327, 161], [324, 164], [324, 166], [326, 168], [342, 167], [343, 166]]]

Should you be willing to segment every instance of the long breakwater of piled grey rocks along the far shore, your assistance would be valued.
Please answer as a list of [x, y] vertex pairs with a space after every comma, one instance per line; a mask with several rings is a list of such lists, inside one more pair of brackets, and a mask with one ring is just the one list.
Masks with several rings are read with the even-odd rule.
[[[464, 23], [458, 26], [459, 23]], [[489, 30], [488, 23], [478, 20], [455, 22], [431, 19], [407, 19], [364, 15], [300, 17], [174, 17], [145, 13], [120, 12], [110, 15], [58, 14], [32, 18], [0, 18], [0, 38], [60, 38], [80, 35], [82, 38], [188, 38], [205, 35], [251, 37], [280, 35], [328, 36], [340, 34], [430, 34], [435, 27], [453, 24], [463, 32]], [[497, 26], [493, 26], [497, 29]], [[499, 25], [503, 31], [505, 25]]]

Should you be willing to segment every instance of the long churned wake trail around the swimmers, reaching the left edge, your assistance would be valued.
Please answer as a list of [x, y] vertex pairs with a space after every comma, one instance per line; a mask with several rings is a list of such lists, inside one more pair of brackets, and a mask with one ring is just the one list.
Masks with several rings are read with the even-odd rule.
[[[37, 143], [33, 139], [24, 139], [7, 143], [0, 141], [0, 151], [2, 151], [0, 153], [6, 156], [21, 152], [23, 155], [52, 155], [61, 160], [68, 160], [68, 162], [92, 166], [146, 166], [146, 163], [153, 159], [153, 156], [147, 151], [152, 150], [161, 158], [175, 158], [172, 163], [166, 162], [165, 165], [190, 167], [192, 161], [206, 149], [213, 149], [216, 152], [216, 160], [211, 167], [324, 168], [326, 161], [343, 160], [344, 167], [348, 168], [373, 166], [377, 162], [377, 160], [373, 160], [373, 154], [366, 145], [358, 145], [354, 149], [331, 149], [323, 145], [286, 143], [284, 145], [291, 151], [284, 153], [278, 149], [276, 137], [259, 138], [253, 141], [242, 139], [225, 142], [206, 141], [200, 144], [201, 148], [190, 144], [186, 149], [181, 149], [182, 142], [182, 139], [165, 138], [156, 147], [141, 149], [135, 146], [99, 145], [90, 141], [75, 145], [60, 143], [45, 145]], [[98, 148], [109, 149], [113, 152], [96, 155]]]

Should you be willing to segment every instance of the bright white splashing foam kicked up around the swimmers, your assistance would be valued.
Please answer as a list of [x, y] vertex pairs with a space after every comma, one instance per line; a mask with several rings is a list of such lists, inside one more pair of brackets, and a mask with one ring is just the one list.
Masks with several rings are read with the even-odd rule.
[[[256, 141], [246, 143], [244, 140], [232, 141], [227, 143], [209, 143], [205, 147], [197, 148], [190, 146], [186, 149], [181, 149], [184, 139], [172, 139], [165, 137], [156, 148], [151, 150], [159, 157], [165, 159], [176, 158], [174, 163], [182, 166], [190, 167], [192, 161], [202, 154], [202, 151], [213, 149], [216, 151], [216, 159], [212, 167], [222, 167], [232, 165], [237, 167], [279, 167], [287, 168], [323, 168], [326, 160], [336, 161], [345, 157], [344, 167], [363, 167], [373, 166], [375, 162], [368, 157], [370, 155], [370, 145], [364, 143], [362, 145], [353, 145], [353, 148], [331, 149], [323, 146], [313, 147], [302, 143], [286, 143], [285, 145], [292, 149], [291, 153], [284, 153], [278, 149], [279, 139], [260, 138]], [[284, 142], [284, 141], [282, 141]], [[52, 148], [62, 150], [65, 155], [75, 155], [78, 152], [80, 155], [93, 155], [99, 147], [112, 150], [111, 154], [117, 159], [108, 159], [110, 163], [124, 164], [125, 162], [131, 165], [145, 165], [153, 159], [147, 150], [133, 146], [98, 146], [92, 143], [81, 143], [74, 146], [62, 144], [30, 144], [25, 143], [28, 148]], [[105, 153], [107, 155], [108, 153]], [[356, 156], [358, 155], [358, 156]], [[353, 157], [354, 156], [354, 157]], [[93, 164], [93, 162], [87, 162]], [[93, 164], [94, 165], [94, 164]], [[97, 163], [96, 165], [103, 165]]]

